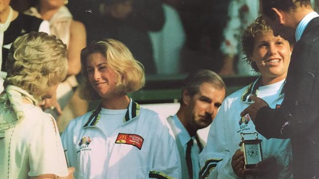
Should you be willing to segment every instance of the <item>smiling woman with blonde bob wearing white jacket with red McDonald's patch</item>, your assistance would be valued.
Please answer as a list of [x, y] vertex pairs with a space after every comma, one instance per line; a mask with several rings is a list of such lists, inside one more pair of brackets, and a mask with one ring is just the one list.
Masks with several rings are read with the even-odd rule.
[[130, 50], [113, 39], [95, 42], [82, 50], [81, 65], [82, 97], [101, 99], [101, 104], [71, 120], [62, 134], [75, 178], [180, 179], [179, 154], [166, 119], [126, 94], [145, 83], [143, 66]]

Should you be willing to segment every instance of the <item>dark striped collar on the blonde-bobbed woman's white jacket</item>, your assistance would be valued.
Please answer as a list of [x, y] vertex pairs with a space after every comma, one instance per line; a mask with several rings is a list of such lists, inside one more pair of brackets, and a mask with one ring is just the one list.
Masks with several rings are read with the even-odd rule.
[[[101, 109], [102, 109], [102, 104], [99, 104], [97, 109], [92, 112], [89, 119], [84, 124], [83, 128], [94, 127], [99, 122], [100, 116], [101, 116]], [[128, 111], [125, 114], [123, 122], [126, 123], [132, 119], [135, 119], [137, 116], [139, 116], [139, 110], [140, 110], [140, 106], [135, 101], [133, 101], [132, 98], [130, 98]]]

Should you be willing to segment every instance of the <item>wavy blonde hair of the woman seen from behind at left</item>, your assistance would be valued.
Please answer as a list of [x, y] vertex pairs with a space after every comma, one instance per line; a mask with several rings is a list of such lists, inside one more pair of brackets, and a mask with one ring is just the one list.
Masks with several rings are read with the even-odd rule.
[[30, 32], [12, 44], [5, 67], [4, 87], [15, 85], [41, 97], [61, 82], [68, 68], [66, 45], [54, 35]]

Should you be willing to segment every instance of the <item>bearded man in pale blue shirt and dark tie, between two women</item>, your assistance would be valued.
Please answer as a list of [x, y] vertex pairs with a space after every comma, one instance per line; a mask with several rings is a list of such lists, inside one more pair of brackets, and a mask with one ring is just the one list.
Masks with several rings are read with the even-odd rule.
[[175, 135], [182, 164], [182, 179], [199, 178], [198, 154], [206, 143], [197, 130], [209, 126], [226, 95], [223, 80], [213, 71], [190, 73], [182, 88], [181, 107], [167, 118]]

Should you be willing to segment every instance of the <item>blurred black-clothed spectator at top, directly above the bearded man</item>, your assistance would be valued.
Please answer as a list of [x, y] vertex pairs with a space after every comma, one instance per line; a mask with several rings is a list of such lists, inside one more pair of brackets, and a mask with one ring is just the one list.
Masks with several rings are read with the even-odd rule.
[[219, 46], [225, 26], [229, 0], [162, 0], [180, 15], [186, 39], [180, 51], [181, 72], [198, 69], [219, 71], [222, 58]]

